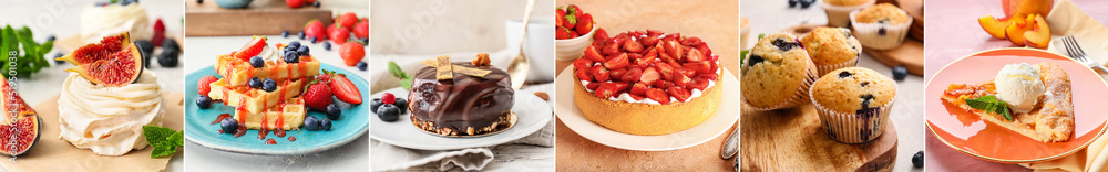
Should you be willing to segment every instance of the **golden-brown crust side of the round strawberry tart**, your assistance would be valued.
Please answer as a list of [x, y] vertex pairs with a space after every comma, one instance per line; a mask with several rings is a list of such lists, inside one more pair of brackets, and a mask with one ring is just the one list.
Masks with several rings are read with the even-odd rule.
[[[716, 80], [721, 80], [717, 77]], [[700, 97], [668, 105], [634, 104], [601, 98], [581, 85], [573, 76], [573, 99], [589, 121], [630, 135], [669, 135], [700, 125], [716, 112], [721, 90], [719, 85], [707, 88]]]

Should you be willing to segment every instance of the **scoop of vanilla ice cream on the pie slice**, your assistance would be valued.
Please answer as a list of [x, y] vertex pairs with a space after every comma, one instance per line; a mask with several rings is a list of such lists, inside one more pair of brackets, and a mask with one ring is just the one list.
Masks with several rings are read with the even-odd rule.
[[1027, 112], [1035, 108], [1039, 96], [1046, 92], [1038, 68], [1027, 63], [1008, 64], [994, 79], [996, 97], [1008, 104], [1013, 112]]

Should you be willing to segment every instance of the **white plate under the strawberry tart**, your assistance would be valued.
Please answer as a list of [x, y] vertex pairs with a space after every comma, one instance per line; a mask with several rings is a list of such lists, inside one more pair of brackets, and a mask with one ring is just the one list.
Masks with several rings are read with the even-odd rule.
[[730, 72], [724, 69], [724, 95], [720, 96], [716, 114], [702, 123], [684, 131], [660, 136], [637, 136], [617, 132], [596, 125], [581, 115], [581, 109], [573, 97], [573, 66], [566, 67], [558, 75], [556, 92], [558, 101], [554, 105], [557, 118], [585, 139], [613, 148], [637, 151], [666, 151], [689, 148], [711, 140], [730, 129], [739, 119], [739, 82]]

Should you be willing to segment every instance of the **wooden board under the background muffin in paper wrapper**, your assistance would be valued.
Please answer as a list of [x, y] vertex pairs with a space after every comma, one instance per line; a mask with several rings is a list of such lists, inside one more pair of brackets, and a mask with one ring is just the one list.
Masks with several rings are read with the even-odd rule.
[[862, 49], [862, 52], [870, 54], [873, 58], [889, 67], [903, 65], [907, 67], [907, 73], [912, 75], [923, 75], [923, 42], [914, 39], [904, 39], [904, 44], [900, 47], [879, 51], [873, 49]]

